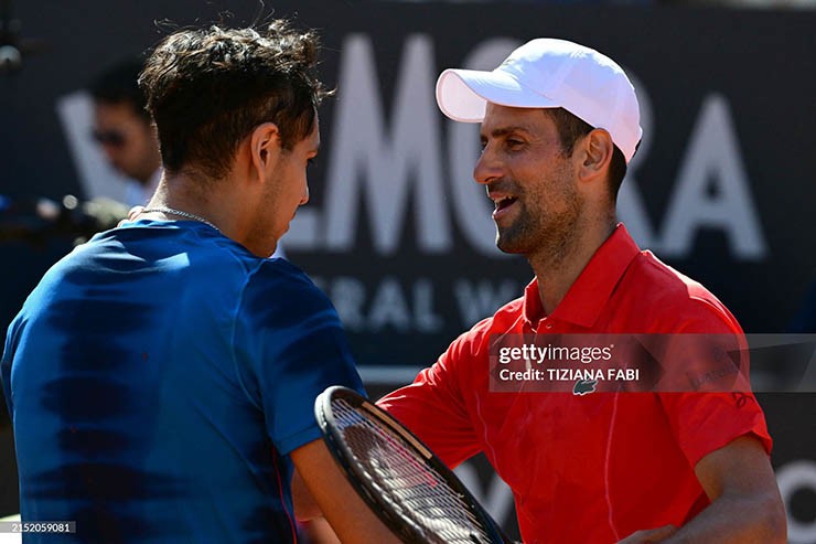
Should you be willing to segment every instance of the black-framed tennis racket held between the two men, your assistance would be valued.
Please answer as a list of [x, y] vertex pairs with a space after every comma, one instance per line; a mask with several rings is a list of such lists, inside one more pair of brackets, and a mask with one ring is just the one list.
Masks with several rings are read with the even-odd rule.
[[314, 412], [348, 481], [406, 544], [513, 542], [430, 449], [364, 396], [329, 387]]

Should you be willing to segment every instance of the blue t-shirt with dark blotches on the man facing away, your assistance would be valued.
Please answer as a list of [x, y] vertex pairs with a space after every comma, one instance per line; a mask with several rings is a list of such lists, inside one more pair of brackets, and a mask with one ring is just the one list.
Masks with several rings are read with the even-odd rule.
[[22, 519], [105, 543], [292, 542], [288, 454], [320, 437], [325, 387], [363, 391], [299, 268], [190, 221], [127, 223], [54, 265], [2, 382]]

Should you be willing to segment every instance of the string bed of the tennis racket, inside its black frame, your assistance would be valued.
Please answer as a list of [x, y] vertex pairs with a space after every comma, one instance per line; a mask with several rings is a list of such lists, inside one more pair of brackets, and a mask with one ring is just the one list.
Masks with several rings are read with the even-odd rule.
[[[412, 520], [432, 542], [491, 542], [465, 498], [418, 452], [387, 427], [361, 415], [343, 399], [332, 412], [346, 447], [382, 495]], [[442, 540], [439, 540], [439, 538]]]

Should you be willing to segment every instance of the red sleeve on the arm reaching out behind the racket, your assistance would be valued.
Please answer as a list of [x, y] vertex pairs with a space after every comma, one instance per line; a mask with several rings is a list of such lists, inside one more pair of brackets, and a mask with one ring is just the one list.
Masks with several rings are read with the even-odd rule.
[[412, 384], [389, 393], [377, 404], [422, 440], [448, 467], [455, 467], [481, 451], [455, 372], [468, 343], [457, 339], [433, 366]]

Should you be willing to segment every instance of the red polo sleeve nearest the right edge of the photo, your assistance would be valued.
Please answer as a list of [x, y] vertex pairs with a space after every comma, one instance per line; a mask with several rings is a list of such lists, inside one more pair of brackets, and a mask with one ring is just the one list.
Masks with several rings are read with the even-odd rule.
[[[684, 316], [680, 333], [732, 334], [747, 345], [737, 320], [719, 300], [691, 299], [676, 314]], [[677, 329], [675, 329], [677, 330]], [[741, 373], [749, 377], [748, 352]], [[770, 455], [773, 441], [765, 416], [750, 387], [734, 392], [659, 393], [672, 431], [691, 467], [708, 454], [744, 435], [754, 436]]]

